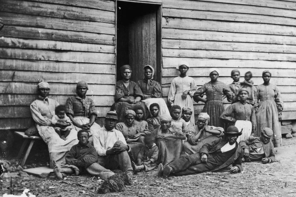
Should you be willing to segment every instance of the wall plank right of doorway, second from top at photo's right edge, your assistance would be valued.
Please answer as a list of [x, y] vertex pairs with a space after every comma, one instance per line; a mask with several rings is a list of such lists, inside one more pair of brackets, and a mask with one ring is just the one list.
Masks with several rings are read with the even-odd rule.
[[[256, 1], [256, 0], [254, 0]], [[189, 10], [208, 10], [216, 12], [244, 13], [244, 14], [261, 14], [269, 16], [281, 16], [295, 18], [295, 10], [269, 8], [261, 6], [249, 6], [219, 2], [190, 1], [190, 0], [163, 0], [163, 8], [177, 8]]]

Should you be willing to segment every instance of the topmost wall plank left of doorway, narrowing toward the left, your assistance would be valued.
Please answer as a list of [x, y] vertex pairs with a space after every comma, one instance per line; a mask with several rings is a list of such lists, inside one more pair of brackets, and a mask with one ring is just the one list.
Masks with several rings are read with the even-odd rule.
[[68, 0], [32, 0], [35, 2], [55, 3], [77, 7], [88, 7], [100, 10], [109, 10], [115, 12], [115, 1], [109, 0], [83, 0], [83, 1], [68, 1]]

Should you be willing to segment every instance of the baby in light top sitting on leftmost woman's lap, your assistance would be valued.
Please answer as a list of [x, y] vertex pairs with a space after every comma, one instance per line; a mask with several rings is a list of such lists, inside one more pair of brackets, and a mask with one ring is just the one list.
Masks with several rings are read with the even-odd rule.
[[59, 105], [55, 108], [55, 115], [51, 118], [51, 124], [55, 125], [55, 132], [64, 140], [70, 134], [71, 129], [74, 129], [70, 118], [66, 115], [66, 107], [64, 105]]

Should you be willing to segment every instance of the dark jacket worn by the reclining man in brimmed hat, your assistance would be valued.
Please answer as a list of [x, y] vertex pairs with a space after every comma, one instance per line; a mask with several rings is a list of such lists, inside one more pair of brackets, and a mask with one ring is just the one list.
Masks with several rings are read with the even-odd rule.
[[[214, 140], [212, 143], [208, 143], [208, 144], [204, 144], [200, 150], [199, 150], [199, 154], [203, 155], [206, 154], [207, 156], [211, 153], [214, 153], [218, 150], [221, 149], [221, 147], [223, 147], [225, 144], [227, 144], [227, 140], [225, 139], [216, 139]], [[224, 167], [229, 166], [230, 164], [232, 164], [233, 166], [237, 166], [238, 167], [238, 171], [240, 172], [242, 170], [241, 168], [241, 159], [243, 158], [243, 149], [241, 148], [240, 145], [238, 145], [238, 143], [236, 142], [236, 151], [235, 153], [225, 162], [223, 163], [221, 166], [218, 166], [214, 169], [212, 169], [211, 171], [216, 171], [216, 170], [220, 170]]]

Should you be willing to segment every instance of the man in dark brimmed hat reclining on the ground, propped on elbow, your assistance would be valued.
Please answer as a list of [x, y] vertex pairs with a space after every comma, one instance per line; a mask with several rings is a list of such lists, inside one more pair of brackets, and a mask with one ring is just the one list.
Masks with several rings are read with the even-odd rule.
[[228, 127], [224, 131], [224, 139], [217, 139], [212, 143], [204, 144], [199, 153], [188, 155], [177, 159], [169, 165], [158, 166], [158, 176], [167, 177], [173, 175], [189, 175], [205, 171], [216, 171], [232, 164], [230, 171], [237, 173], [241, 171], [241, 160], [243, 150], [236, 142], [241, 132], [235, 126]]

